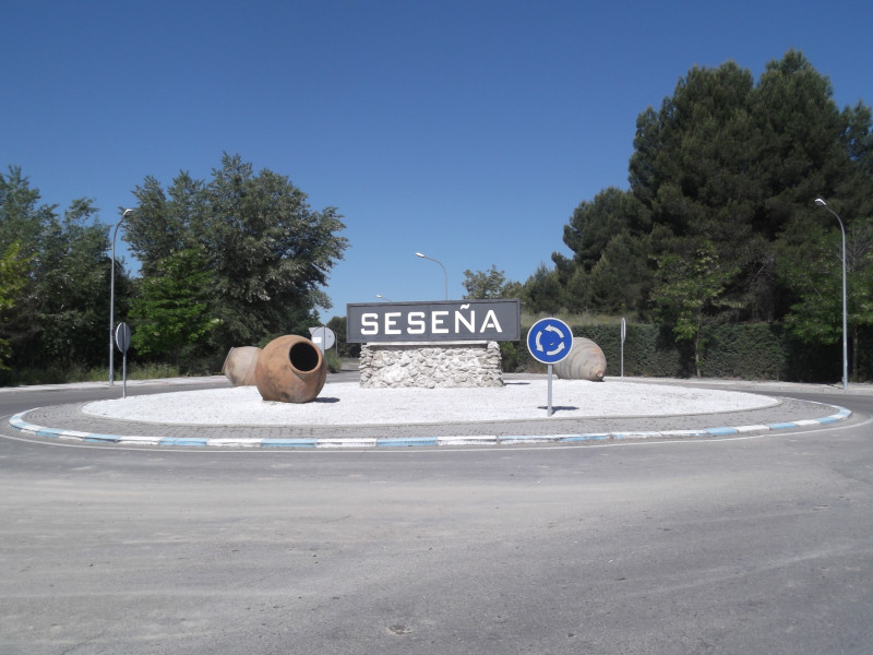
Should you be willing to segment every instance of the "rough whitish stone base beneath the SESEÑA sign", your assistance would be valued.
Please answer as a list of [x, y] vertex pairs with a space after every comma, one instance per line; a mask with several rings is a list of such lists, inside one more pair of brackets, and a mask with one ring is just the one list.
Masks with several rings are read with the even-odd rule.
[[361, 386], [503, 386], [497, 342], [366, 344]]

